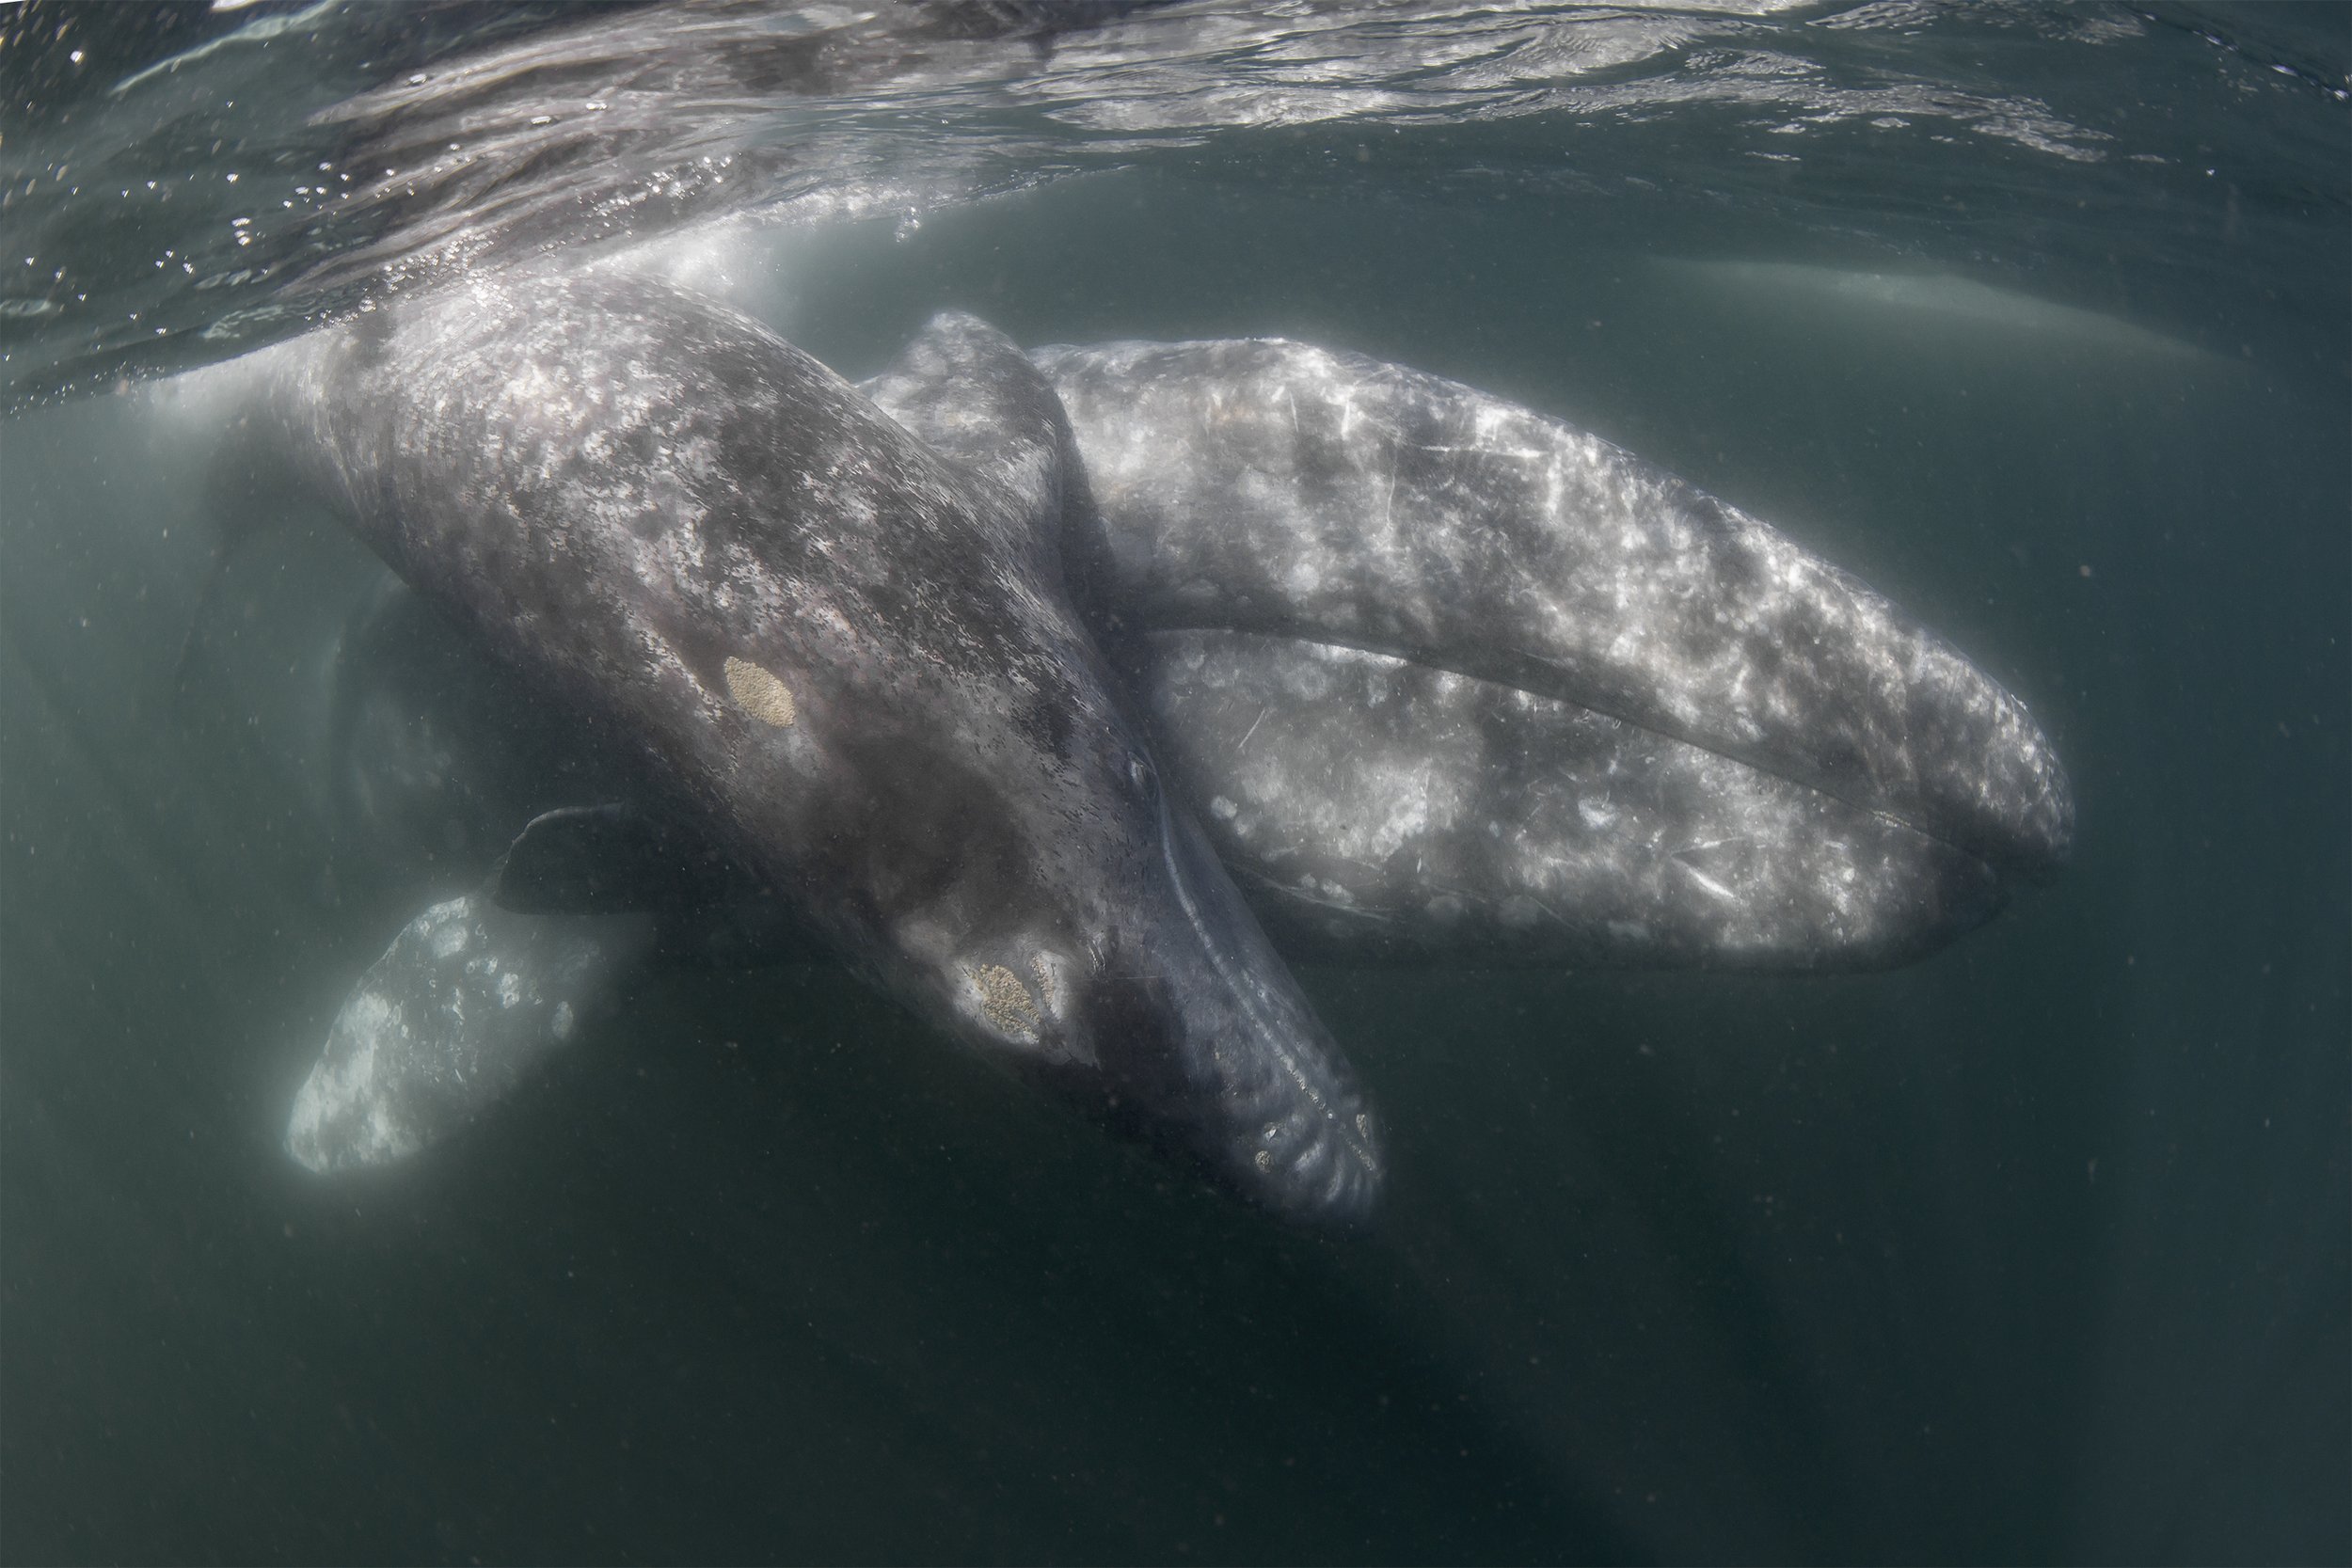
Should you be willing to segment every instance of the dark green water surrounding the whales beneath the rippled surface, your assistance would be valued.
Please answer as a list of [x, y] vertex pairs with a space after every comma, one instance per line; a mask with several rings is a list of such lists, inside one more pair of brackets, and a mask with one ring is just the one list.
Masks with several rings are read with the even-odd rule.
[[[1388, 1107], [1371, 1239], [821, 969], [647, 983], [477, 1133], [310, 1178], [287, 1100], [407, 914], [322, 898], [278, 679], [353, 545], [266, 536], [198, 616], [200, 473], [139, 400], [0, 425], [0, 1556], [2352, 1556], [2352, 38], [1835, 16], [1705, 47], [2112, 141], [1816, 150], [1726, 99], [1225, 127], [729, 252], [849, 374], [964, 306], [1458, 376], [2032, 703], [2074, 865], [1926, 964], [1305, 971]], [[132, 254], [59, 212], [0, 223]], [[183, 357], [228, 294], [162, 299]], [[56, 320], [14, 374], [134, 362]]]

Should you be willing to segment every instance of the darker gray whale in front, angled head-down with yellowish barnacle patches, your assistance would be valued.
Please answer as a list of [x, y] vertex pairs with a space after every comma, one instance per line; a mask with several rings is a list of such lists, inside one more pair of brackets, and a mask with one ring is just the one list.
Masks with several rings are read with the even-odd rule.
[[480, 277], [191, 378], [644, 806], [943, 1030], [1310, 1222], [1378, 1135], [1004, 491], [771, 331]]

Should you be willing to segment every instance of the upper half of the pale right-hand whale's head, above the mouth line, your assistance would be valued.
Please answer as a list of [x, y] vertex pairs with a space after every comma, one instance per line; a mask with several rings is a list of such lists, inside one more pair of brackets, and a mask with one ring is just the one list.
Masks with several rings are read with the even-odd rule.
[[2011, 872], [2060, 863], [2025, 705], [1755, 517], [1465, 386], [1287, 341], [1047, 348], [1129, 630], [1390, 654], [1809, 785]]

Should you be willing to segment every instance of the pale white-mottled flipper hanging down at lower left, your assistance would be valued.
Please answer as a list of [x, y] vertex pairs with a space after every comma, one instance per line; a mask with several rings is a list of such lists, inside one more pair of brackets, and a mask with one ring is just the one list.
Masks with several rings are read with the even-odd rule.
[[412, 919], [353, 987], [294, 1095], [287, 1152], [383, 1166], [506, 1098], [652, 952], [644, 914], [546, 917], [487, 893]]

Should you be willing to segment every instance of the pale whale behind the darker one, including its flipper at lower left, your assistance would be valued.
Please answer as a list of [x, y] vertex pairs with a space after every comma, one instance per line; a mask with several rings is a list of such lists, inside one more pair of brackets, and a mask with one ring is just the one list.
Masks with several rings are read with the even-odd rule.
[[[1025, 357], [943, 315], [861, 390], [1058, 543], [1152, 750], [1291, 954], [1879, 966], [2065, 856], [2049, 745], [1947, 644], [1470, 388], [1282, 341]], [[362, 839], [445, 844], [430, 818], [470, 811], [473, 842], [503, 842], [633, 792], [414, 595], [379, 597], [341, 668]], [[647, 898], [701, 853], [609, 811], [532, 823], [362, 978], [289, 1147], [369, 1164], [466, 1121], [654, 954], [809, 950], [790, 900], [741, 879]], [[583, 863], [663, 907], [583, 914]]]

